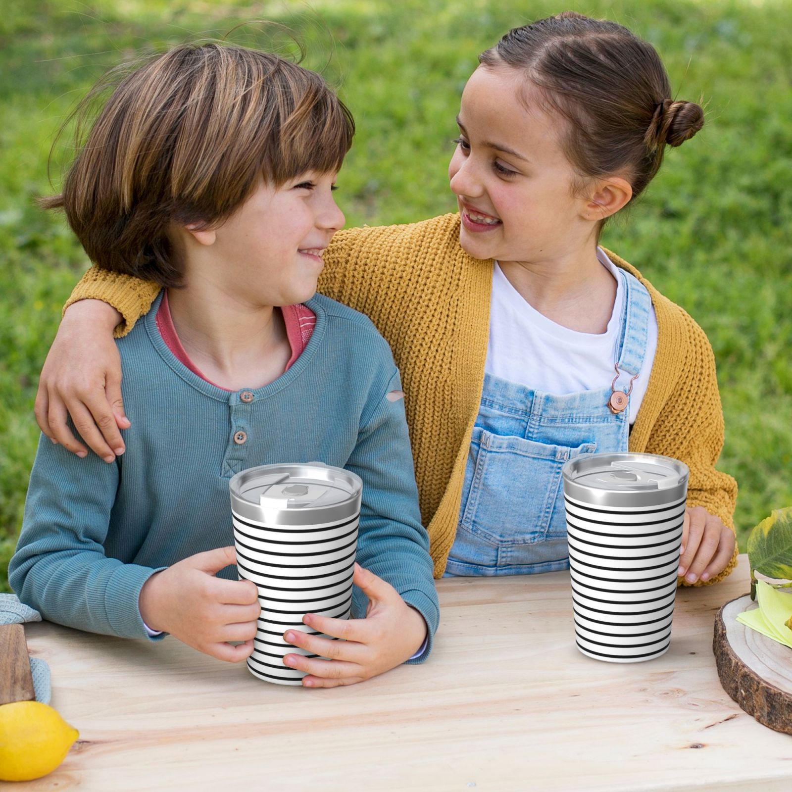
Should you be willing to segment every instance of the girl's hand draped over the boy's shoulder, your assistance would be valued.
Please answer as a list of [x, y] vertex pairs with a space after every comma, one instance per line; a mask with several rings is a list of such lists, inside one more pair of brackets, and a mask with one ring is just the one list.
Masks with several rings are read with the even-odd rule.
[[119, 428], [130, 422], [121, 401], [121, 360], [112, 331], [121, 314], [97, 299], [67, 308], [41, 370], [36, 422], [53, 443], [86, 456], [70, 432], [67, 413], [82, 439], [110, 463], [124, 453]]

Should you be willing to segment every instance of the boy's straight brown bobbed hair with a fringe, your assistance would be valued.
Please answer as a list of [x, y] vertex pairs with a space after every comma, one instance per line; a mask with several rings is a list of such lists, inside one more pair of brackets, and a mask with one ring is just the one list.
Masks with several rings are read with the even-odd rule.
[[177, 286], [170, 223], [219, 223], [262, 177], [280, 187], [307, 171], [337, 170], [354, 131], [351, 113], [315, 72], [267, 52], [184, 44], [120, 82], [78, 147], [63, 192], [40, 205], [65, 209], [101, 268]]

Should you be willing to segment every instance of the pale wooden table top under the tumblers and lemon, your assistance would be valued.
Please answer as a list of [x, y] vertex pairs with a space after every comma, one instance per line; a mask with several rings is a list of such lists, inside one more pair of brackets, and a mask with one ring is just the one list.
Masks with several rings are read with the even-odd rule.
[[668, 653], [584, 657], [569, 573], [438, 581], [432, 657], [333, 690], [279, 687], [189, 649], [27, 626], [81, 739], [13, 790], [792, 790], [792, 738], [718, 683], [714, 614], [748, 562], [683, 589]]

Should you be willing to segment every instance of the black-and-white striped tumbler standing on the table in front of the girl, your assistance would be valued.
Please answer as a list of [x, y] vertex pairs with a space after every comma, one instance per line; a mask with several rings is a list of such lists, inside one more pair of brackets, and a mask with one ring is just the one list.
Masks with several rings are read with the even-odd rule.
[[687, 465], [653, 454], [581, 454], [563, 468], [577, 648], [636, 663], [668, 650]]

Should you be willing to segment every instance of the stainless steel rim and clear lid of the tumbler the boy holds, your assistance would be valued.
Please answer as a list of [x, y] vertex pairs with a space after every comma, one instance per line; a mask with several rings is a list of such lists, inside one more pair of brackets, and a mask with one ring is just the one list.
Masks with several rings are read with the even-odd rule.
[[249, 467], [229, 482], [231, 510], [243, 520], [316, 525], [360, 511], [360, 477], [321, 462]]

